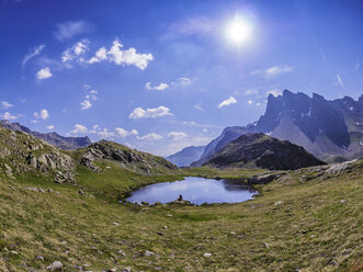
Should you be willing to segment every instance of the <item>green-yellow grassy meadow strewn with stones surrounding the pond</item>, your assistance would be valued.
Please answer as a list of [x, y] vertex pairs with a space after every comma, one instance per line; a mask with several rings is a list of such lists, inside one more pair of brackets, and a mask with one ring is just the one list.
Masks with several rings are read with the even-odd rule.
[[207, 206], [114, 200], [133, 188], [182, 175], [237, 178], [254, 170], [204, 168], [146, 178], [111, 171], [109, 165], [104, 169], [110, 170], [105, 175], [79, 169], [80, 185], [2, 178], [0, 271], [45, 271], [54, 261], [64, 271], [363, 269], [363, 161], [343, 174], [290, 172], [259, 186], [253, 201]]

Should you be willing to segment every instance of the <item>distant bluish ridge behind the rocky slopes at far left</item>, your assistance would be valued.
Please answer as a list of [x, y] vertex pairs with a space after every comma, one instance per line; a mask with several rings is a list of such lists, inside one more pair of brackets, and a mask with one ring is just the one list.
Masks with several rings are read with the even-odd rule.
[[87, 136], [86, 137], [64, 137], [57, 133], [45, 133], [45, 134], [37, 133], [37, 132], [31, 131], [29, 127], [23, 126], [19, 123], [10, 123], [9, 121], [5, 121], [5, 120], [1, 120], [0, 125], [10, 131], [31, 134], [37, 138], [41, 138], [45, 141], [47, 141], [48, 144], [50, 144], [53, 146], [56, 146], [56, 147], [58, 147], [60, 149], [65, 149], [65, 150], [75, 150], [75, 149], [86, 147], [86, 146], [92, 144], [90, 138]]

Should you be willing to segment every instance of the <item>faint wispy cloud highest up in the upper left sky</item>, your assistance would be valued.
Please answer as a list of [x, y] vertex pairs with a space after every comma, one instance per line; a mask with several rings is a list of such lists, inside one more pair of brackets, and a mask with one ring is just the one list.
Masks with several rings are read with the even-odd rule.
[[60, 23], [56, 25], [57, 31], [54, 33], [55, 37], [64, 42], [66, 39], [70, 39], [73, 36], [83, 34], [83, 33], [89, 33], [92, 31], [92, 25], [84, 22], [84, 21], [69, 21], [65, 23]]

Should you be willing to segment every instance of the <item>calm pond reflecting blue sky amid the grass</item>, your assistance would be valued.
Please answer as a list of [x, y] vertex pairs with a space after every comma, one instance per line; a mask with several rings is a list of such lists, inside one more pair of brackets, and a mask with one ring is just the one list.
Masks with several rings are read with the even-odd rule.
[[168, 203], [179, 195], [193, 204], [236, 203], [253, 199], [258, 191], [238, 180], [214, 180], [188, 177], [181, 181], [147, 185], [132, 193], [129, 202]]

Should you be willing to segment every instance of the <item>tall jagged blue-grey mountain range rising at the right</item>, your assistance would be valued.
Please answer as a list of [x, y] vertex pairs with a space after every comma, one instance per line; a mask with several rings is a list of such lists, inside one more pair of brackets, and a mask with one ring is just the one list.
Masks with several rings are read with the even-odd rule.
[[320, 159], [363, 157], [363, 95], [358, 101], [344, 97], [328, 101], [314, 93], [293, 93], [268, 98], [264, 115], [247, 126], [224, 129], [212, 140], [200, 160], [192, 166], [202, 166], [225, 145], [247, 133], [264, 133], [303, 146]]

